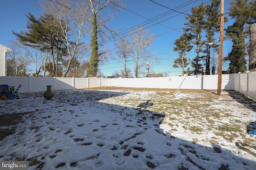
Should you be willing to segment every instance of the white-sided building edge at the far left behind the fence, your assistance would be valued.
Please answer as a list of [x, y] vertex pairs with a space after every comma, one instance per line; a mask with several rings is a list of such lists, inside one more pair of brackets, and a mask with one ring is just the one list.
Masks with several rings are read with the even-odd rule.
[[6, 68], [6, 57], [11, 52], [11, 49], [0, 44], [0, 76], [7, 75]]

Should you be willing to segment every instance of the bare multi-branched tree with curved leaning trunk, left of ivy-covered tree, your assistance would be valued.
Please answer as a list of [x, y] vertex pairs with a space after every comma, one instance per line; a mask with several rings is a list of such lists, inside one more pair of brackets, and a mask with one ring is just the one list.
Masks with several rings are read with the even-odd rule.
[[57, 36], [65, 43], [68, 56], [66, 69], [62, 73], [62, 77], [65, 77], [76, 55], [88, 49], [82, 43], [82, 39], [90, 33], [88, 18], [84, 15], [88, 14], [88, 8], [81, 7], [74, 0], [42, 1], [41, 5], [46, 9], [45, 14], [55, 17], [56, 23], [53, 24], [61, 30], [61, 35]]

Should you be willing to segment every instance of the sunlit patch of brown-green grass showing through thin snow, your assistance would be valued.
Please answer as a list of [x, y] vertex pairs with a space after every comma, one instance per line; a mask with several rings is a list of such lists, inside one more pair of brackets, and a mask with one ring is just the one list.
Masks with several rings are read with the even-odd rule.
[[[113, 88], [113, 90], [118, 90], [116, 87]], [[240, 120], [239, 116], [234, 117], [234, 109], [228, 107], [229, 105], [233, 106], [233, 104], [235, 104], [234, 102], [237, 102], [233, 99], [236, 92], [234, 92], [235, 94], [233, 96], [230, 95], [230, 92], [226, 94], [224, 92], [220, 98], [214, 93], [215, 91], [212, 92], [212, 90], [182, 89], [180, 90], [180, 92], [182, 91], [181, 93], [172, 97], [176, 89], [123, 89], [134, 90], [131, 93], [136, 95], [132, 96], [132, 98], [123, 98], [124, 96], [114, 97], [110, 104], [115, 104], [115, 100], [122, 100], [122, 103], [124, 104], [123, 106], [134, 106], [135, 108], [138, 108], [139, 104], [146, 100], [150, 100], [150, 103], [153, 105], [146, 109], [157, 113], [164, 113], [164, 116], [158, 114], [154, 116], [155, 118], [164, 118], [162, 124], [164, 123], [168, 125], [173, 132], [177, 131], [175, 128], [182, 127], [185, 130], [182, 133], [187, 133], [188, 130], [198, 134], [205, 133], [204, 130], [212, 131], [216, 135], [216, 139], [222, 137], [230, 142], [238, 137], [242, 137], [244, 140], [248, 138], [248, 134], [242, 128], [243, 120]], [[152, 93], [142, 98], [142, 91], [152, 91]], [[236, 99], [242, 103], [244, 98], [244, 96], [241, 96], [239, 99]], [[254, 106], [254, 104], [252, 104], [252, 106]], [[238, 107], [241, 109], [247, 108], [246, 104], [242, 104]], [[250, 108], [252, 107], [250, 106]], [[241, 117], [245, 117], [250, 115], [250, 110], [242, 111], [238, 114], [240, 114]], [[218, 124], [221, 118], [227, 119], [227, 124]], [[214, 137], [212, 139], [214, 139]], [[192, 140], [193, 143], [198, 142], [196, 139]]]

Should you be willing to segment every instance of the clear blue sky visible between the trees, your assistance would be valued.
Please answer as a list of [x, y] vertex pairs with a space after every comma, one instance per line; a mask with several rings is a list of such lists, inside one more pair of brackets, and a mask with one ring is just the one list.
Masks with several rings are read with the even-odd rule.
[[[152, 55], [157, 55], [160, 63], [150, 65], [150, 71], [168, 72], [169, 76], [180, 75], [181, 68], [173, 68], [173, 61], [178, 57], [178, 53], [173, 51], [173, 42], [182, 34], [182, 27], [186, 22], [185, 15], [181, 13], [190, 13], [192, 7], [200, 5], [202, 2], [209, 3], [209, 0], [123, 0], [127, 5], [126, 9], [120, 9], [117, 13], [117, 20], [114, 18], [110, 22], [114, 29], [133, 29], [134, 26], [142, 24], [148, 27], [152, 35], [156, 35], [155, 44], [152, 45]], [[25, 14], [30, 12], [36, 18], [41, 14], [41, 8], [37, 0], [8, 0], [1, 1], [0, 15], [2, 16], [0, 27], [0, 43], [8, 47], [10, 40], [16, 37], [12, 34], [19, 33], [26, 29], [27, 18]], [[225, 12], [228, 12], [229, 4], [225, 0]], [[176, 12], [170, 10], [174, 9]], [[128, 11], [129, 10], [129, 11]], [[157, 17], [158, 16], [158, 17]], [[225, 15], [228, 17], [228, 15]], [[148, 19], [158, 18], [156, 22], [150, 22]], [[225, 27], [229, 23], [225, 23]], [[231, 23], [230, 23], [231, 24]], [[219, 33], [216, 34], [219, 36]], [[227, 55], [231, 50], [232, 43], [225, 41], [223, 46], [223, 55]], [[170, 55], [170, 51], [172, 54]], [[193, 59], [195, 56], [194, 49], [186, 57]], [[145, 63], [146, 64], [146, 63]], [[105, 76], [111, 76], [114, 71], [123, 68], [121, 63], [109, 60], [108, 63], [100, 66], [100, 71]], [[130, 69], [134, 67], [130, 65]], [[190, 68], [191, 69], [191, 68]], [[186, 70], [186, 68], [185, 68]]]

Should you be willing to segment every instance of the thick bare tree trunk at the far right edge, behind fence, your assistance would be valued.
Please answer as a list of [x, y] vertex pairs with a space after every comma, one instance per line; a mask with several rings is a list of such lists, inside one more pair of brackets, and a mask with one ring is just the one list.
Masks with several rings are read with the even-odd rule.
[[250, 25], [249, 71], [256, 71], [256, 23]]

